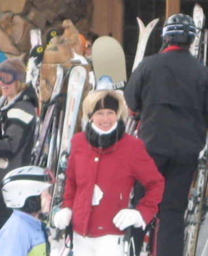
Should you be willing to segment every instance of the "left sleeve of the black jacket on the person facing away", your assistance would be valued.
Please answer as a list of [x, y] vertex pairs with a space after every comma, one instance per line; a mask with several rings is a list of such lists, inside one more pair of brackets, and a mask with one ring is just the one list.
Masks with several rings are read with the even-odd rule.
[[140, 112], [142, 106], [142, 85], [143, 85], [143, 61], [134, 69], [124, 90], [124, 97], [128, 108], [134, 112]]

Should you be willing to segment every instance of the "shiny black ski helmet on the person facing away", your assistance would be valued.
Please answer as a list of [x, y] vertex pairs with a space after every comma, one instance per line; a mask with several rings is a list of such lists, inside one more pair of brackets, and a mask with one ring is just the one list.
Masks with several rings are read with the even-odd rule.
[[196, 36], [194, 20], [185, 14], [173, 14], [164, 22], [163, 40], [168, 43], [191, 44]]

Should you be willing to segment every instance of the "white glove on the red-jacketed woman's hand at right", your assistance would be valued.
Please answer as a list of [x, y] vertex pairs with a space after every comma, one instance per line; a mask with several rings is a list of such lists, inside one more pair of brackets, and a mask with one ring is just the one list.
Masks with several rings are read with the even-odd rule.
[[120, 230], [124, 230], [125, 228], [128, 228], [128, 226], [132, 225], [135, 228], [141, 227], [143, 230], [146, 228], [146, 224], [141, 213], [134, 209], [120, 210], [113, 218], [113, 223]]

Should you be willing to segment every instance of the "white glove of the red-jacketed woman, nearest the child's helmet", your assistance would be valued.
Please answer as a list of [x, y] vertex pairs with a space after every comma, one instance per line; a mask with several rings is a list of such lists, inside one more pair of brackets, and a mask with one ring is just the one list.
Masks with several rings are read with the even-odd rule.
[[54, 226], [59, 229], [65, 229], [69, 225], [72, 217], [72, 210], [65, 207], [57, 212], [54, 216]]

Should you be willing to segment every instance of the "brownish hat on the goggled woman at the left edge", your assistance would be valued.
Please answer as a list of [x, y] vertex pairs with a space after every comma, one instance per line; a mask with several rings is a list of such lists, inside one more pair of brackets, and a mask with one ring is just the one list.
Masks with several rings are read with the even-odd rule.
[[26, 82], [26, 65], [16, 57], [0, 63], [0, 70], [14, 74], [15, 80]]

